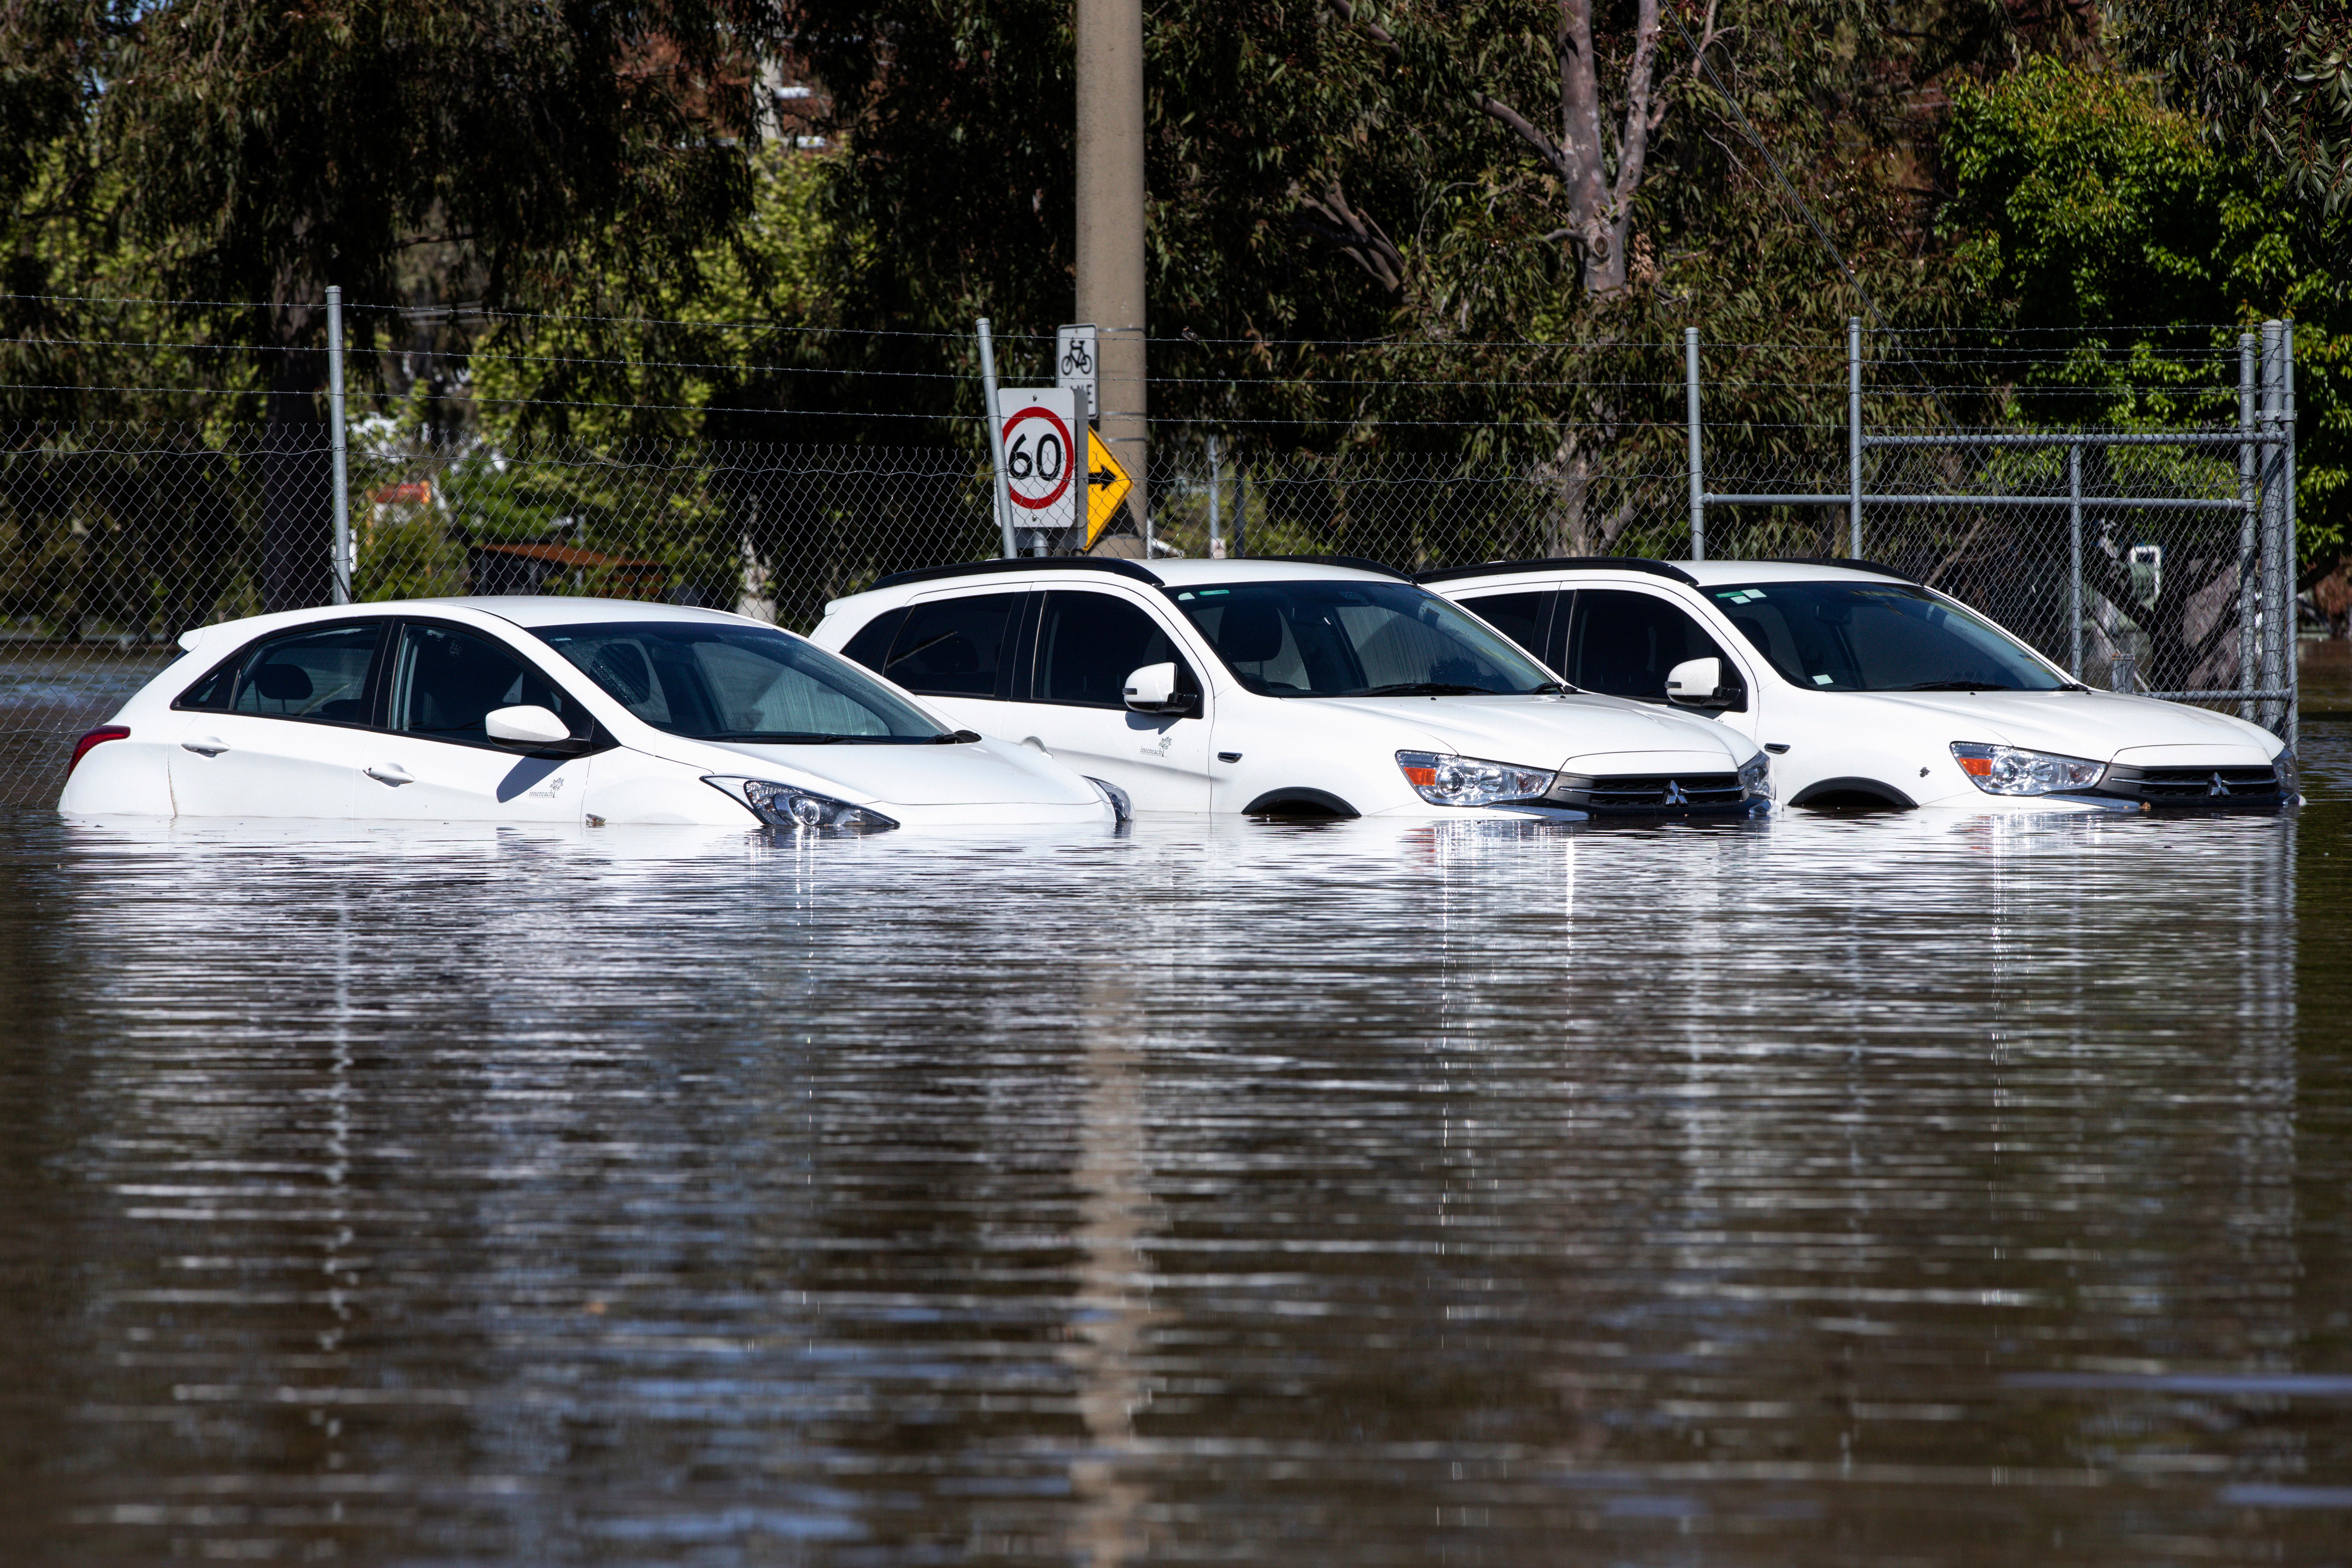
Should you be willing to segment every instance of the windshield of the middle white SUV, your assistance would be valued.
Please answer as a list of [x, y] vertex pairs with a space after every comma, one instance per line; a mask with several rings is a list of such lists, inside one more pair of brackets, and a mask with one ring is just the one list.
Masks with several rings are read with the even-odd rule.
[[1225, 668], [1261, 696], [1552, 691], [1550, 670], [1411, 583], [1169, 588]]

